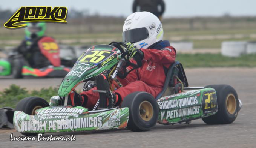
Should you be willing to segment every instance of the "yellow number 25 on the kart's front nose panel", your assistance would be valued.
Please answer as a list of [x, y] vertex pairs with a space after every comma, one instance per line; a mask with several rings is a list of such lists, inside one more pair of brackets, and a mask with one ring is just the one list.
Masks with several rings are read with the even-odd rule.
[[87, 51], [86, 54], [84, 55], [79, 62], [90, 62], [90, 63], [99, 63], [105, 58], [109, 57], [112, 55], [113, 52], [110, 51], [97, 51], [97, 50], [90, 50]]

